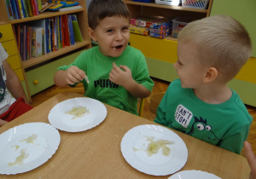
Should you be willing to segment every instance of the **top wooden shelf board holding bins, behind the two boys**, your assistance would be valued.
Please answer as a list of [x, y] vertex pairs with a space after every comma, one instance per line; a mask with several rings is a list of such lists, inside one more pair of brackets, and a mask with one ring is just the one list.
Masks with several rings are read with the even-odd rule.
[[197, 13], [207, 13], [207, 9], [190, 9], [190, 8], [183, 8], [182, 6], [171, 6], [171, 5], [162, 5], [157, 3], [139, 3], [133, 1], [126, 1], [126, 4], [138, 5], [138, 6], [148, 6], [160, 9], [175, 9], [175, 10], [185, 10]]

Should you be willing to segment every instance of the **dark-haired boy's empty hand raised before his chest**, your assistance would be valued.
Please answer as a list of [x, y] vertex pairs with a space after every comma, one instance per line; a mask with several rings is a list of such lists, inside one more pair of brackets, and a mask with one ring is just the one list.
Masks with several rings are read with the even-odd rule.
[[117, 66], [113, 62], [113, 68], [112, 68], [111, 72], [109, 73], [109, 79], [114, 84], [119, 84], [121, 86], [125, 86], [125, 84], [129, 84], [129, 81], [132, 80], [131, 70], [127, 66]]

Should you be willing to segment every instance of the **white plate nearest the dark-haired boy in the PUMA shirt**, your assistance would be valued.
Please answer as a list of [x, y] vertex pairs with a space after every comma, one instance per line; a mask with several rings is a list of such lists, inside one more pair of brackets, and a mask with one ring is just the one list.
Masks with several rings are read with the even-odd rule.
[[[73, 115], [67, 114], [73, 107], [86, 107], [89, 113], [83, 117], [73, 118]], [[62, 101], [53, 107], [48, 115], [49, 123], [59, 130], [67, 132], [80, 132], [90, 130], [107, 116], [107, 108], [102, 102], [91, 99], [89, 97], [77, 97], [66, 101]]]

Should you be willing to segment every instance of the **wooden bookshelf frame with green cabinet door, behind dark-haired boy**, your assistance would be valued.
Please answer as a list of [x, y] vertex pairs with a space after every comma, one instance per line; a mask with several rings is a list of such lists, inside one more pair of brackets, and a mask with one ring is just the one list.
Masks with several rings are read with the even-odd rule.
[[[48, 0], [41, 0], [42, 3]], [[38, 57], [32, 57], [29, 60], [22, 61], [20, 53], [18, 53], [21, 66], [21, 72], [24, 77], [24, 90], [26, 90], [29, 101], [32, 102], [31, 95], [38, 93], [41, 90], [48, 88], [54, 84], [53, 78], [56, 72], [56, 66], [67, 65], [74, 60], [79, 53], [91, 47], [90, 37], [87, 35], [87, 8], [85, 0], [76, 0], [82, 9], [73, 9], [69, 11], [44, 11], [42, 14], [26, 17], [22, 19], [9, 20], [8, 10], [6, 9], [5, 0], [0, 1], [0, 27], [10, 24], [12, 26], [12, 33], [15, 37], [15, 48], [18, 49], [17, 36], [15, 34], [15, 27], [33, 23], [37, 20], [44, 20], [45, 18], [52, 18], [64, 14], [75, 14], [79, 23], [79, 28], [83, 37], [82, 42], [76, 42], [73, 45], [65, 46], [56, 51], [51, 51], [48, 54]], [[1, 28], [0, 28], [1, 29]], [[19, 50], [18, 50], [19, 52]], [[44, 77], [44, 78], [42, 78]]]

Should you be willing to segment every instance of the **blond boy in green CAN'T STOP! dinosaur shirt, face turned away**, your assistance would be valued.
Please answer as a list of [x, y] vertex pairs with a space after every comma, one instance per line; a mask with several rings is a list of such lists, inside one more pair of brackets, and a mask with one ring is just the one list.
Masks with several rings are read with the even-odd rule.
[[177, 37], [179, 79], [166, 90], [154, 122], [241, 153], [253, 118], [227, 83], [251, 53], [247, 30], [230, 16], [189, 23]]

